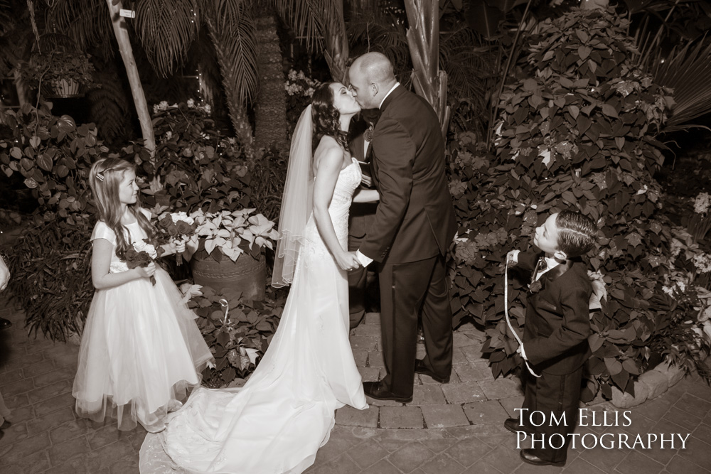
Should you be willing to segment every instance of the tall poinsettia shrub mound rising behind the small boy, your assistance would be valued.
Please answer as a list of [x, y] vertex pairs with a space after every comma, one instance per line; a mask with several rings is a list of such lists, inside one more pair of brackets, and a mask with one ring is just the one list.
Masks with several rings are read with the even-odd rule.
[[[653, 179], [663, 162], [653, 134], [672, 99], [627, 59], [626, 26], [598, 10], [542, 21], [525, 41], [519, 78], [501, 96], [496, 152], [459, 134], [450, 159], [460, 225], [451, 268], [455, 323], [471, 316], [486, 328], [483, 351], [494, 375], [520, 364], [503, 321], [506, 252], [528, 248], [552, 212], [577, 209], [597, 222], [599, 242], [587, 257], [607, 297], [591, 313], [586, 399], [599, 389], [611, 397], [612, 387], [634, 392], [651, 337], [683, 311], [670, 310], [659, 283], [672, 235]], [[510, 315], [521, 328], [528, 276], [510, 276]], [[700, 353], [685, 352], [690, 360]]]

